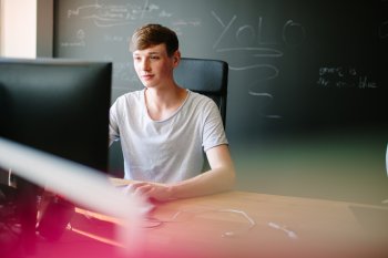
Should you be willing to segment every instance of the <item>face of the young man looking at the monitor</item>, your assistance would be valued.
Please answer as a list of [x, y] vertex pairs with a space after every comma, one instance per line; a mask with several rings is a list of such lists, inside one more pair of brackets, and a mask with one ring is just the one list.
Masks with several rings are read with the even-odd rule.
[[176, 53], [167, 55], [165, 44], [152, 45], [133, 52], [133, 64], [145, 87], [164, 86], [173, 80], [173, 69], [177, 65]]

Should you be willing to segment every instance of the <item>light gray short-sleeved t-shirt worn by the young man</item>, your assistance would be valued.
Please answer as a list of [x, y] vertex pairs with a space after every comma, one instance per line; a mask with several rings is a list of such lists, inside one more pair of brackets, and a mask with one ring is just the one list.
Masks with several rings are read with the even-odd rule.
[[217, 105], [188, 91], [185, 102], [163, 121], [146, 111], [144, 90], [126, 93], [110, 111], [110, 144], [121, 142], [124, 178], [174, 183], [202, 172], [204, 152], [227, 144]]

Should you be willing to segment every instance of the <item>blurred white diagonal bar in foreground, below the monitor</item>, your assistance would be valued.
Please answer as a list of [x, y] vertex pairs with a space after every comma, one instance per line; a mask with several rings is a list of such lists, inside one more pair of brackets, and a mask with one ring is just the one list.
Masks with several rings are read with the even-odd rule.
[[1, 137], [0, 167], [74, 204], [121, 219], [116, 240], [132, 255], [142, 252], [142, 216], [149, 206], [114, 187], [103, 173]]

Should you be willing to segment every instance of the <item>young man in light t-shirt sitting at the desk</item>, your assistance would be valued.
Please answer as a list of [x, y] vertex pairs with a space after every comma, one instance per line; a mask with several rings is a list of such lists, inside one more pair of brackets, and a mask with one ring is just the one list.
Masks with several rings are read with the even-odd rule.
[[[130, 50], [144, 89], [112, 105], [110, 144], [121, 141], [124, 177], [136, 182], [132, 189], [157, 200], [231, 189], [235, 171], [216, 104], [174, 81], [181, 59], [175, 32], [146, 24], [134, 32]], [[211, 167], [204, 173], [203, 152]]]

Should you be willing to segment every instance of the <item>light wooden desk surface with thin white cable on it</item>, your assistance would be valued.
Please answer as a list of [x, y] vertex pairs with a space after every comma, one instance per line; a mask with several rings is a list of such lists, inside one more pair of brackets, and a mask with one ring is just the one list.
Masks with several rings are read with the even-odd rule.
[[[78, 211], [55, 254], [116, 254], [112, 218]], [[387, 206], [228, 192], [157, 204], [149, 217], [142, 257], [388, 257]]]

